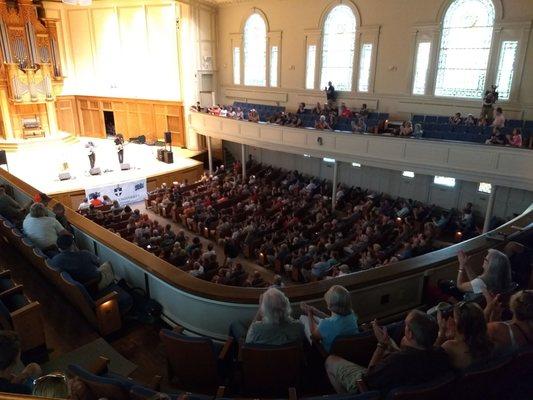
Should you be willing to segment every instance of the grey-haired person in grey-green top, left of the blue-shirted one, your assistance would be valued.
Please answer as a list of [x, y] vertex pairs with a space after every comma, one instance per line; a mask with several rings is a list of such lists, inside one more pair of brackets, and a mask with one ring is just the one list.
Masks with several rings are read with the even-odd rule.
[[246, 336], [246, 343], [283, 346], [304, 342], [302, 323], [291, 317], [291, 304], [287, 296], [276, 288], [261, 295], [259, 310], [251, 325], [235, 321], [230, 326], [230, 335], [236, 339]]

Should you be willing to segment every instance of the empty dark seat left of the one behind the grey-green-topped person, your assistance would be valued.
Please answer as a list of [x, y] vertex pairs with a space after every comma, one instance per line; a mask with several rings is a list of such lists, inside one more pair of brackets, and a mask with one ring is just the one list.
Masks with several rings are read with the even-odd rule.
[[181, 327], [159, 332], [167, 356], [169, 379], [177, 380], [186, 390], [215, 393], [221, 382], [219, 363], [226, 360], [233, 340], [229, 338], [217, 352], [211, 339], [186, 336], [182, 332]]

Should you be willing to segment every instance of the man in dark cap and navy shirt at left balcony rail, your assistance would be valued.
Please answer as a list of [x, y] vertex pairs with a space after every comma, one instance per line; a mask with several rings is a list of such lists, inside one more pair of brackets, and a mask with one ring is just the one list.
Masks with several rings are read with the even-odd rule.
[[82, 285], [100, 280], [101, 274], [98, 270], [100, 260], [87, 250], [78, 250], [74, 246], [72, 236], [59, 236], [57, 247], [60, 253], [48, 261], [52, 267], [62, 272], [68, 272], [74, 280]]

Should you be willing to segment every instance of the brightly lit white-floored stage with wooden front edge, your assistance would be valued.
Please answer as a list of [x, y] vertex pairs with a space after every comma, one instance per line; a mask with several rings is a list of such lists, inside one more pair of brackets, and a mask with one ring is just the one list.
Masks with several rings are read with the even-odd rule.
[[[95, 166], [101, 169], [101, 175], [89, 173], [89, 157], [85, 147], [88, 141], [95, 144]], [[183, 179], [193, 181], [202, 174], [203, 164], [189, 158], [202, 152], [173, 147], [174, 163], [165, 164], [157, 160], [159, 148], [161, 147], [145, 144], [125, 144], [124, 163], [129, 164], [130, 169], [121, 170], [112, 139], [32, 139], [32, 146], [7, 153], [7, 169], [17, 178], [74, 208], [83, 199], [85, 189], [146, 178], [147, 188], [152, 190], [162, 182], [171, 183]], [[68, 166], [66, 171], [65, 166]], [[6, 166], [1, 168], [6, 169]], [[59, 180], [60, 172], [68, 172], [71, 179]]]

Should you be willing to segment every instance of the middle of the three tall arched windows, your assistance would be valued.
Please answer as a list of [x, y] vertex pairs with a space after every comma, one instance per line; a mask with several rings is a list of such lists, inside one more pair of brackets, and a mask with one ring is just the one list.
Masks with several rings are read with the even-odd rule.
[[352, 90], [355, 28], [355, 15], [346, 5], [334, 7], [326, 17], [322, 42], [321, 88], [332, 81], [336, 90]]

